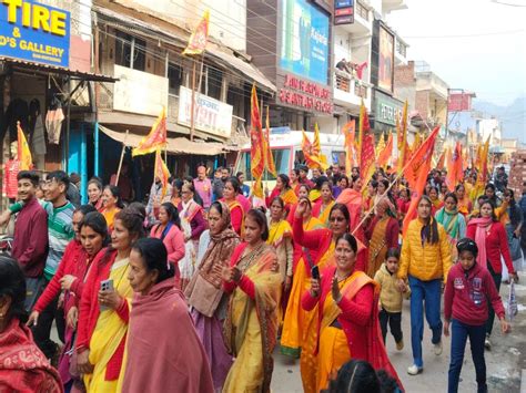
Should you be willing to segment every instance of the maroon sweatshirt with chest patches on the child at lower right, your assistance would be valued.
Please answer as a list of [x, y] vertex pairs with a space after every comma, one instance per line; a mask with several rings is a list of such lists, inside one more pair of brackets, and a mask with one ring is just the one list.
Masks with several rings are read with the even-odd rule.
[[492, 303], [499, 319], [505, 317], [503, 301], [498, 294], [489, 271], [475, 263], [469, 270], [464, 270], [461, 263], [451, 270], [444, 292], [444, 318], [452, 317], [468, 325], [486, 323], [488, 302]]

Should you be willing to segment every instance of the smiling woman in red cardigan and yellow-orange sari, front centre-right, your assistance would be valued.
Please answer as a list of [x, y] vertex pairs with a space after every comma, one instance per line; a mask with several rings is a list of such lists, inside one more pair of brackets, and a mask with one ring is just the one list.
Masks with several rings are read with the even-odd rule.
[[[311, 279], [302, 299], [305, 310], [317, 306], [316, 392], [351, 359], [365, 360], [397, 378], [382, 342], [378, 322], [380, 288], [356, 268], [358, 245], [350, 234], [336, 239], [334, 266]], [[402, 384], [399, 384], [402, 386]]]

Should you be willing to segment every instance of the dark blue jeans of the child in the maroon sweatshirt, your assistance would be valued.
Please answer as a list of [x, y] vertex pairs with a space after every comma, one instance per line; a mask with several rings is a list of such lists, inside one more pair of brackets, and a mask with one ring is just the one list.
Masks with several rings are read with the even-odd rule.
[[464, 362], [464, 350], [469, 337], [472, 347], [472, 358], [475, 364], [477, 378], [477, 392], [486, 393], [486, 362], [484, 361], [484, 339], [486, 338], [486, 325], [473, 327], [452, 320], [452, 354], [449, 363], [449, 380], [447, 382], [447, 392], [456, 393], [458, 391], [458, 379], [461, 378], [462, 364]]

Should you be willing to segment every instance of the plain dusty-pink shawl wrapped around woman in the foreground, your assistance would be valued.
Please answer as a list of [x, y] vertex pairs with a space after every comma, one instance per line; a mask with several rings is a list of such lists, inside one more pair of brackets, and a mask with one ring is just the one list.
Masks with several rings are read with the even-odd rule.
[[173, 280], [135, 293], [121, 374], [122, 392], [214, 391], [206, 353]]

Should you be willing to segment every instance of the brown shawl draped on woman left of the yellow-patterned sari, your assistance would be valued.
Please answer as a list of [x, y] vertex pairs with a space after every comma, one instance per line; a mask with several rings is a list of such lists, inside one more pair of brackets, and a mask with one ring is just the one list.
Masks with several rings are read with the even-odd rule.
[[210, 242], [198, 271], [190, 280], [184, 294], [189, 304], [201, 313], [212, 317], [223, 294], [221, 271], [230, 263], [230, 257], [240, 242], [240, 237], [232, 230], [230, 209], [221, 204], [221, 231], [210, 235]]

